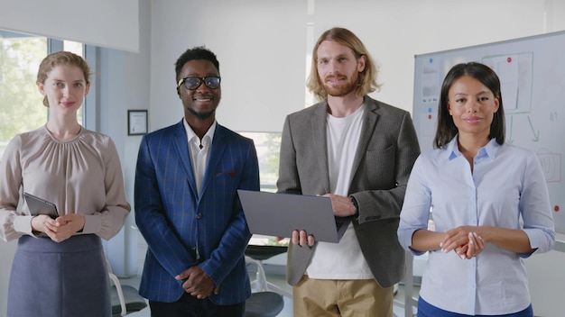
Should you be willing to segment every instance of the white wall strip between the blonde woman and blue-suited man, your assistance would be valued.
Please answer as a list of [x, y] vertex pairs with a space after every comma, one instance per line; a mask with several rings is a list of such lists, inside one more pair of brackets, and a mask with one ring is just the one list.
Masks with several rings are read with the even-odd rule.
[[[151, 64], [151, 3], [139, 3], [140, 52], [98, 49], [97, 131], [107, 133], [116, 143], [125, 177], [125, 194], [132, 212], [122, 231], [105, 243], [116, 276], [137, 274], [138, 232], [134, 230], [134, 175], [141, 136], [127, 135], [127, 110], [148, 109]], [[151, 112], [150, 112], [151, 113]], [[151, 119], [150, 119], [151, 120]]]

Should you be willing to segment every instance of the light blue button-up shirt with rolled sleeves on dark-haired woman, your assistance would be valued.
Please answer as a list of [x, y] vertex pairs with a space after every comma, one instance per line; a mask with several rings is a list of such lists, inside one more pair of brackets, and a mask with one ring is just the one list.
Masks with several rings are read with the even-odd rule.
[[[435, 231], [462, 225], [520, 229], [535, 253], [553, 248], [555, 231], [547, 185], [535, 154], [490, 140], [473, 161], [459, 152], [457, 137], [445, 149], [422, 153], [412, 168], [406, 189], [398, 238], [409, 247], [414, 231]], [[432, 210], [432, 213], [430, 211]], [[486, 243], [471, 259], [441, 249], [429, 253], [421, 281], [421, 297], [432, 305], [468, 315], [520, 312], [530, 303], [522, 258]]]

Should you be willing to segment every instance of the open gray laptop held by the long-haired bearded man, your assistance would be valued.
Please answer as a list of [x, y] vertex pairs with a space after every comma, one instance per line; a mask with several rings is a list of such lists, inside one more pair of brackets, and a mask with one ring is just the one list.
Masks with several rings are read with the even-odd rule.
[[351, 217], [333, 214], [329, 197], [275, 194], [238, 189], [245, 219], [253, 234], [290, 238], [305, 230], [317, 241], [338, 243]]

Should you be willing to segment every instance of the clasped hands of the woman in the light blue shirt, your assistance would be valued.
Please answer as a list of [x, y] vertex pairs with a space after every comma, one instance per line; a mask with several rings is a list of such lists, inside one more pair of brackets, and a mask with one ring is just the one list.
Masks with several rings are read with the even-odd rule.
[[481, 238], [476, 229], [471, 226], [460, 226], [445, 231], [445, 237], [440, 242], [441, 251], [443, 253], [455, 251], [462, 259], [477, 257], [485, 249], [485, 240]]

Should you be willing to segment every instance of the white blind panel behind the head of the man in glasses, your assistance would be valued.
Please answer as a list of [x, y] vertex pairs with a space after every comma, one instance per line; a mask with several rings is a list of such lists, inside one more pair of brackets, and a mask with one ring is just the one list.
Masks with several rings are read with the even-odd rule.
[[283, 115], [304, 106], [305, 4], [153, 1], [151, 128], [181, 120], [174, 62], [205, 45], [220, 64], [218, 122], [237, 131], [280, 130]]

